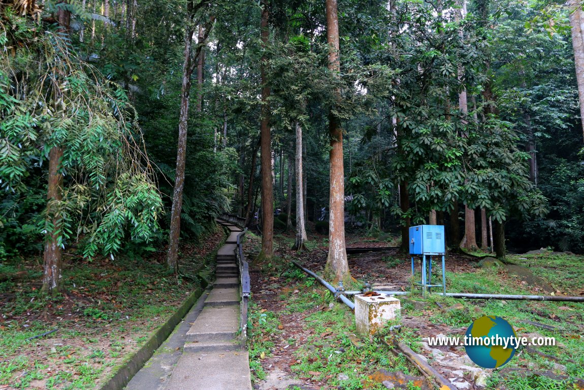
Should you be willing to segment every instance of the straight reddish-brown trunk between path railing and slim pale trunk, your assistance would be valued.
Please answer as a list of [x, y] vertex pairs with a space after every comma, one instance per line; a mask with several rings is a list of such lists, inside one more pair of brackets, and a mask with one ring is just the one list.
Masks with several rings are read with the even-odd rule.
[[[269, 37], [267, 1], [262, 2], [262, 46], [267, 46]], [[270, 259], [274, 254], [274, 199], [272, 178], [272, 137], [270, 136], [270, 108], [267, 99], [270, 96], [270, 87], [267, 86], [265, 63], [267, 58], [262, 57], [262, 125], [260, 131], [260, 150], [262, 154], [262, 251], [260, 257]]]

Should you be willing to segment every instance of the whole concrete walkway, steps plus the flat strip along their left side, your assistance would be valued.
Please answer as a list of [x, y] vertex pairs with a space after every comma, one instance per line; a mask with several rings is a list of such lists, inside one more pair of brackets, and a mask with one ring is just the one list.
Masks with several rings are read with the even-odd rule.
[[[217, 276], [171, 337], [127, 385], [127, 390], [251, 390], [249, 355], [237, 339], [241, 322], [239, 227], [217, 252]], [[182, 347], [182, 348], [180, 348]]]

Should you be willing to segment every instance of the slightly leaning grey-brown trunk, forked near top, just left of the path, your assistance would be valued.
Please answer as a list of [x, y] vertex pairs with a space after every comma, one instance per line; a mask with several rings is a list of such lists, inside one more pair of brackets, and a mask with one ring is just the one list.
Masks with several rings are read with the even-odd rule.
[[[194, 13], [193, 3], [187, 3], [187, 12], [189, 13], [189, 18], [192, 19]], [[206, 32], [204, 35], [204, 40], [207, 39], [210, 33], [211, 26], [213, 26], [214, 17], [211, 17]], [[186, 163], [186, 141], [187, 141], [187, 129], [189, 127], [189, 101], [190, 101], [190, 87], [191, 87], [191, 76], [194, 71], [193, 64], [199, 57], [203, 45], [197, 45], [195, 54], [191, 51], [191, 46], [193, 43], [194, 26], [192, 25], [192, 20], [187, 23], [185, 31], [185, 51], [183, 59], [183, 78], [182, 87], [180, 89], [180, 115], [179, 115], [179, 139], [178, 146], [176, 148], [176, 174], [175, 174], [175, 187], [172, 194], [172, 209], [171, 209], [171, 232], [168, 241], [168, 254], [166, 256], [166, 263], [168, 267], [171, 268], [175, 274], [178, 273], [178, 251], [179, 251], [179, 237], [180, 237], [180, 213], [182, 211], [182, 196], [183, 189], [185, 187], [185, 163]]]

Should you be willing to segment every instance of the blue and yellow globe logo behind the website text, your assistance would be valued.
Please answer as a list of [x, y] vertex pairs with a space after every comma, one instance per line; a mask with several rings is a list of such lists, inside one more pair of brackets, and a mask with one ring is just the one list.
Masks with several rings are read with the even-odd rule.
[[497, 368], [506, 364], [517, 348], [517, 334], [505, 319], [484, 316], [468, 327], [464, 349], [482, 368]]

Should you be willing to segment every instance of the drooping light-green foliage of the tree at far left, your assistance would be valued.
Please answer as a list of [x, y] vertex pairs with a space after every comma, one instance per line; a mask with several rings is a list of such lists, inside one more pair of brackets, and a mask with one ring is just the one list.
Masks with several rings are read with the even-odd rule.
[[[126, 94], [84, 63], [68, 37], [5, 15], [0, 41], [18, 46], [0, 58], [0, 186], [9, 194], [0, 215], [9, 226], [6, 238], [33, 239], [30, 225], [16, 225], [24, 212], [39, 220], [39, 198], [19, 203], [23, 194], [41, 191], [49, 152], [58, 147], [62, 200], [46, 204], [41, 233], [57, 234], [63, 247], [88, 237], [88, 257], [98, 250], [115, 253], [126, 236], [150, 240], [162, 201], [152, 171], [142, 165], [148, 160]], [[60, 223], [51, 225], [53, 218]]]

